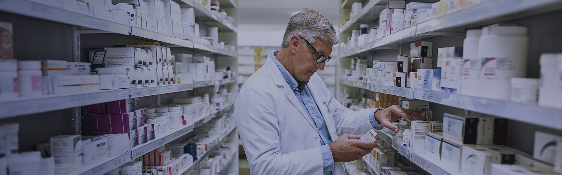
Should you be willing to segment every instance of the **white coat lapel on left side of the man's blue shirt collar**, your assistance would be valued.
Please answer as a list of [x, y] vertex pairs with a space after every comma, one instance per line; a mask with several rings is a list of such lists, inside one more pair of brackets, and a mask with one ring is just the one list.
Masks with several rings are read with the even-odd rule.
[[301, 103], [298, 102], [297, 96], [294, 95], [293, 90], [289, 87], [289, 84], [287, 84], [287, 81], [285, 81], [285, 79], [283, 79], [283, 75], [281, 75], [281, 72], [279, 71], [279, 68], [277, 68], [277, 66], [275, 65], [273, 60], [271, 60], [271, 58], [268, 57], [268, 60], [265, 62], [264, 67], [265, 67], [266, 70], [268, 70], [269, 75], [271, 76], [271, 79], [273, 79], [273, 81], [275, 82], [275, 85], [283, 86], [283, 91], [285, 93], [285, 97], [287, 97], [289, 99], [289, 102], [291, 102], [291, 104], [295, 108], [298, 109], [298, 112], [301, 113], [301, 116], [304, 117], [306, 119], [306, 121], [309, 121], [310, 126], [316, 130], [316, 126], [310, 120], [310, 117], [306, 113], [305, 109], [302, 108]]

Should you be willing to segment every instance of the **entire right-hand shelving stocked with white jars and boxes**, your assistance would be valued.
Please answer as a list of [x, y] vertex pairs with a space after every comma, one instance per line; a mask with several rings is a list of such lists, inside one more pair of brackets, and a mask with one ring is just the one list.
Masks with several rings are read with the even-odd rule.
[[562, 173], [562, 1], [342, 1], [338, 94], [423, 110], [361, 174]]

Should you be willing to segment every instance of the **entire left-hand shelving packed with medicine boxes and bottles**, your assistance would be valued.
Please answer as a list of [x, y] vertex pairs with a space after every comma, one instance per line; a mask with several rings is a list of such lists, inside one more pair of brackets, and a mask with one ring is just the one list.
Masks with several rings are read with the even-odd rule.
[[0, 174], [238, 174], [237, 1], [0, 1]]

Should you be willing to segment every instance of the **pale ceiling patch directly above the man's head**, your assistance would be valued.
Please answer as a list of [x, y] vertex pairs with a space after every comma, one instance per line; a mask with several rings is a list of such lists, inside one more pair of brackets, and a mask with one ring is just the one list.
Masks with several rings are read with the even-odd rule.
[[293, 12], [302, 8], [319, 11], [334, 23], [338, 7], [339, 0], [238, 0], [238, 24], [287, 25]]

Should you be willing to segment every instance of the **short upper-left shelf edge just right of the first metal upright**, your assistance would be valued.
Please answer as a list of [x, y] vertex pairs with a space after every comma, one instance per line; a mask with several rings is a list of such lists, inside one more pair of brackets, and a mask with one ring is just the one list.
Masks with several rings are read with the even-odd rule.
[[155, 31], [143, 29], [143, 28], [140, 28], [140, 27], [137, 27], [137, 26], [131, 26], [130, 31], [131, 31], [130, 34], [133, 35], [133, 36], [151, 39], [151, 40], [155, 40], [155, 41], [162, 42], [162, 43], [172, 44], [172, 45], [166, 45], [168, 47], [193, 48], [193, 41], [191, 41], [191, 40], [184, 40], [184, 39], [175, 38], [175, 37], [170, 36], [170, 35], [157, 33]]

